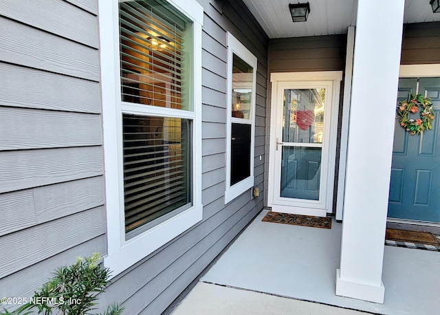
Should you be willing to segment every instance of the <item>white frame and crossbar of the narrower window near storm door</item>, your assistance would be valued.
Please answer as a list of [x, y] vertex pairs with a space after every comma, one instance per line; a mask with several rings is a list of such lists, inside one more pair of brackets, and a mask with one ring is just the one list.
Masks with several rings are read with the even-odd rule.
[[[239, 56], [245, 63], [248, 63], [254, 71], [252, 100], [250, 108], [250, 119], [232, 117], [232, 63], [233, 54]], [[254, 186], [254, 158], [255, 158], [255, 100], [256, 100], [256, 68], [258, 60], [250, 50], [240, 43], [230, 32], [228, 32], [228, 107], [226, 120], [226, 189], [225, 204], [231, 202], [234, 198], [239, 197], [245, 191]], [[251, 125], [251, 143], [250, 143], [250, 176], [231, 186], [231, 133], [232, 123], [250, 124]]]

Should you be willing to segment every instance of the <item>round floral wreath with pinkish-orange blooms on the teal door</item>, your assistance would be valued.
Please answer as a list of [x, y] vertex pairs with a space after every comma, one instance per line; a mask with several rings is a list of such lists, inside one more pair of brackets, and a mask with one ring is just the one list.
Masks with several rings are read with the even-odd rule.
[[[417, 105], [423, 107], [419, 119], [408, 119], [410, 113], [417, 113], [419, 108]], [[434, 112], [432, 111], [432, 102], [430, 98], [422, 94], [411, 94], [408, 100], [402, 100], [397, 105], [397, 119], [401, 127], [404, 127], [410, 132], [410, 135], [421, 133], [428, 129], [432, 129], [432, 120], [434, 120]]]

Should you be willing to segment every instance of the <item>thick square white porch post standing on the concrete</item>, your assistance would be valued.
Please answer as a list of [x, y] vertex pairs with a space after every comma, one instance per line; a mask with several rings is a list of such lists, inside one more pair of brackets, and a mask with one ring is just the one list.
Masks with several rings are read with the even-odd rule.
[[336, 294], [384, 303], [384, 237], [404, 0], [359, 0]]

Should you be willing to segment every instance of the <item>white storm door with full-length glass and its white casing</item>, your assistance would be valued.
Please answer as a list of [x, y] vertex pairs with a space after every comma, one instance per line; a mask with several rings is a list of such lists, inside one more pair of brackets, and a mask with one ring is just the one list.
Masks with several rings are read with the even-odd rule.
[[272, 83], [276, 93], [272, 94], [269, 203], [274, 211], [325, 217], [331, 208], [338, 116], [332, 104], [335, 84], [333, 80]]

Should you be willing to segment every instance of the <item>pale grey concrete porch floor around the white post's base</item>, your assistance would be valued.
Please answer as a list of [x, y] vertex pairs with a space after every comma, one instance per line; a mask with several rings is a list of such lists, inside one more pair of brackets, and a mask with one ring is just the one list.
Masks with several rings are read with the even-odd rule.
[[384, 304], [336, 296], [342, 224], [333, 221], [328, 230], [262, 222], [266, 213], [252, 221], [173, 314], [358, 314], [350, 309], [439, 314], [440, 252], [385, 246]]

